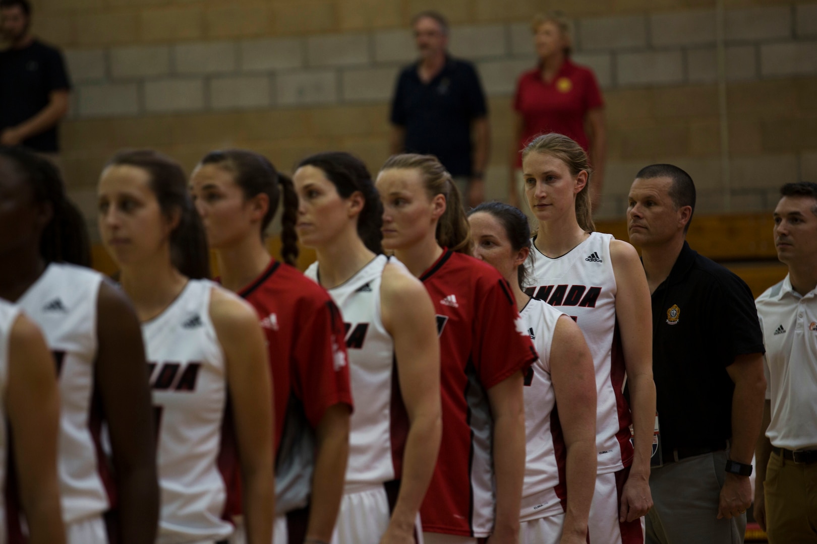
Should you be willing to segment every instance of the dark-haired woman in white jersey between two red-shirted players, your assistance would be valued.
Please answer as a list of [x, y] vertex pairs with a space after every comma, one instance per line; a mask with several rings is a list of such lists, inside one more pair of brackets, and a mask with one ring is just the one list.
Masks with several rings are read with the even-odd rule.
[[306, 275], [340, 307], [355, 414], [337, 542], [422, 542], [417, 511], [440, 447], [440, 345], [422, 285], [380, 247], [381, 207], [348, 153], [301, 161], [297, 231]]

